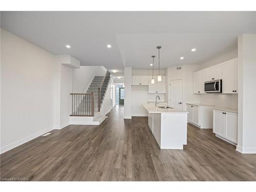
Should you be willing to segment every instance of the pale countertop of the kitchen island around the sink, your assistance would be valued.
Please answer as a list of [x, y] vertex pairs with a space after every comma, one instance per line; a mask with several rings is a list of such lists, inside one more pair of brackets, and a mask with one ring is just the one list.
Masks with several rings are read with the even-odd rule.
[[[155, 106], [153, 103], [142, 103], [144, 108], [147, 110], [148, 113], [188, 113], [183, 110], [178, 109], [162, 109]], [[159, 104], [158, 106], [166, 106], [164, 104]]]

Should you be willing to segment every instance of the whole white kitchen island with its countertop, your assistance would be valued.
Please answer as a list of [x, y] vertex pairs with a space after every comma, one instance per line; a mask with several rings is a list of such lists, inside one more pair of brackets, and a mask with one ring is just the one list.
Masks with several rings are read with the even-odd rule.
[[[187, 144], [187, 113], [177, 109], [161, 109], [143, 103], [148, 112], [148, 126], [161, 149], [183, 149]], [[163, 106], [163, 105], [159, 105]]]

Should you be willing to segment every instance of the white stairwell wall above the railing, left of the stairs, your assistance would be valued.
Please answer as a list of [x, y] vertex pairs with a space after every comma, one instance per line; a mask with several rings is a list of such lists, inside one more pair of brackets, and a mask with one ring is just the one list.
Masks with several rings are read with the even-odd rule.
[[90, 86], [94, 76], [104, 76], [106, 69], [103, 66], [81, 66], [73, 70], [73, 93], [84, 93]]

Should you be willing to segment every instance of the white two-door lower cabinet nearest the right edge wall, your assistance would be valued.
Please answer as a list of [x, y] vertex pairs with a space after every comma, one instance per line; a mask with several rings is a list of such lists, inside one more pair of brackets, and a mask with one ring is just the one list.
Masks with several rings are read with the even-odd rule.
[[238, 142], [238, 114], [214, 110], [214, 133], [221, 139], [231, 143]]

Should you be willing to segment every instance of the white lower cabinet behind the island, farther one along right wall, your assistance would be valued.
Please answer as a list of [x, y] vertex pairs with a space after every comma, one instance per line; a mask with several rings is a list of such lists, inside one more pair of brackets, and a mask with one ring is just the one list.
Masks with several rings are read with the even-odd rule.
[[198, 126], [200, 129], [212, 128], [211, 105], [195, 105], [187, 103], [187, 121]]

